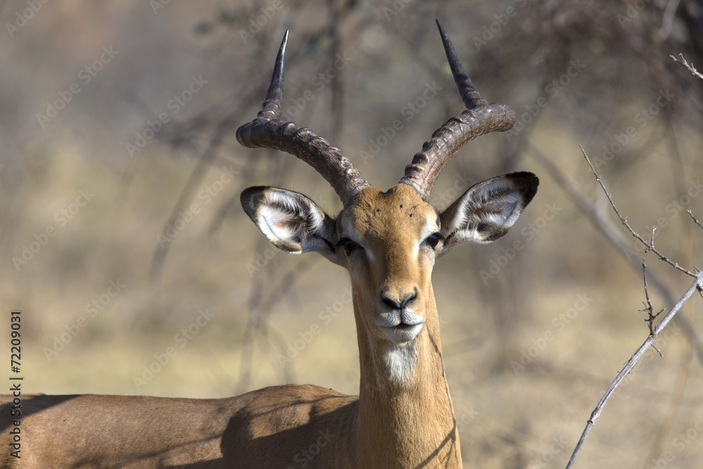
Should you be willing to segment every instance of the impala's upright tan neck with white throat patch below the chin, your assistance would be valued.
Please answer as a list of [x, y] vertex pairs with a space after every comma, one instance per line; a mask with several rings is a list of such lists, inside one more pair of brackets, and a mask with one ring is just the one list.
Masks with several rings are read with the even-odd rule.
[[404, 347], [389, 346], [363, 328], [360, 314], [370, 311], [361, 311], [354, 295], [361, 361], [359, 459], [363, 467], [461, 467], [432, 285], [428, 294], [425, 327]]

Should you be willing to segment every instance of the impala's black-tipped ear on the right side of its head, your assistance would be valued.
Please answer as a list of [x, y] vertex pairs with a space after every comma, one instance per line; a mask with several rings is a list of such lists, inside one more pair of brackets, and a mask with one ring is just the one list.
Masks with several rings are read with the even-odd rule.
[[469, 188], [441, 213], [441, 234], [448, 252], [461, 243], [490, 243], [505, 236], [537, 192], [529, 172], [494, 177]]

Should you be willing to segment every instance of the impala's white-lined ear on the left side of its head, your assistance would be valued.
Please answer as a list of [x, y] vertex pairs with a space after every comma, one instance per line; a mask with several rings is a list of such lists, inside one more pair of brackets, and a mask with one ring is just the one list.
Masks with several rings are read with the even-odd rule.
[[301, 193], [276, 187], [247, 188], [242, 207], [254, 224], [280, 250], [319, 252], [339, 264], [335, 221]]

